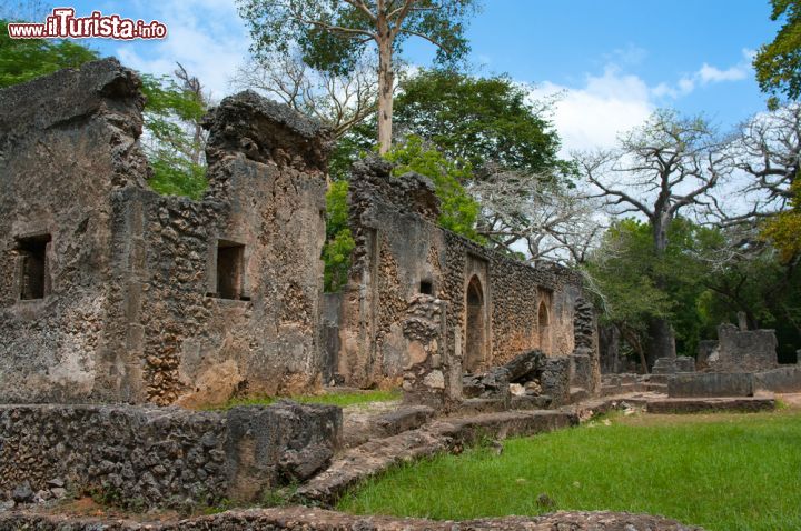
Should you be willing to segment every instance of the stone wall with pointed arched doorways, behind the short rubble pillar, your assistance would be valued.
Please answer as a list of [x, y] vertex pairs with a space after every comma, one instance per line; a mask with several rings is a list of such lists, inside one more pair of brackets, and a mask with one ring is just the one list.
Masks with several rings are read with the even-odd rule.
[[[431, 182], [413, 173], [394, 180], [390, 171], [377, 159], [357, 162], [353, 169], [350, 226], [357, 247], [343, 293], [338, 357], [345, 381], [356, 385], [394, 381], [411, 367], [402, 322], [409, 301], [421, 293], [422, 281], [445, 301], [445, 342], [451, 363], [461, 368], [465, 293], [474, 274], [483, 288], [490, 322], [485, 358], [475, 370], [543, 344], [538, 327], [543, 301], [548, 308], [548, 354], [572, 354], [578, 275], [557, 267], [532, 268], [441, 229]], [[455, 381], [456, 374], [451, 379]]]

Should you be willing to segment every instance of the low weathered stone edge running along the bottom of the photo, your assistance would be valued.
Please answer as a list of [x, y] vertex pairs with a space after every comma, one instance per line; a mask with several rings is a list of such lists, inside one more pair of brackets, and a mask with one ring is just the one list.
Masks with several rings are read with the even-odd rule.
[[359, 517], [342, 512], [288, 507], [226, 511], [178, 522], [137, 523], [97, 518], [66, 518], [31, 513], [0, 515], [2, 529], [36, 529], [37, 531], [703, 531], [675, 520], [649, 514], [625, 512], [558, 511], [542, 517], [505, 517], [461, 522], [415, 518]]

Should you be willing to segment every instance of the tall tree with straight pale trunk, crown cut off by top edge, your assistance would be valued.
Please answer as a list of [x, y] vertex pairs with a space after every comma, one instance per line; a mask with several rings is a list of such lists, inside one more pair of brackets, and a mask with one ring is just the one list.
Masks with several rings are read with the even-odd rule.
[[368, 44], [375, 47], [382, 154], [392, 144], [394, 57], [400, 44], [418, 37], [436, 47], [441, 63], [464, 58], [464, 21], [475, 7], [475, 0], [239, 0], [257, 57], [297, 44], [309, 66], [344, 73]]

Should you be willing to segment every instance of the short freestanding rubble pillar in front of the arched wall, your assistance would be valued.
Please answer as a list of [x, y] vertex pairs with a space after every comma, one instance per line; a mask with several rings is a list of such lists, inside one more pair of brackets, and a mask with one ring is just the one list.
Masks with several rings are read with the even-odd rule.
[[[446, 345], [446, 303], [432, 295], [415, 295], [403, 320], [408, 362], [404, 368], [404, 403], [447, 410], [459, 402], [461, 379], [453, 378]], [[455, 389], [459, 385], [459, 389]]]

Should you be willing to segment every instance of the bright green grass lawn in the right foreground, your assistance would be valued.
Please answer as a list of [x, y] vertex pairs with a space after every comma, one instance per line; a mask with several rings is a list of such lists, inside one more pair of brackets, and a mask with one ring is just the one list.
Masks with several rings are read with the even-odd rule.
[[400, 467], [339, 509], [455, 520], [614, 510], [719, 531], [797, 530], [801, 410], [613, 417], [507, 440], [502, 455], [477, 448]]

